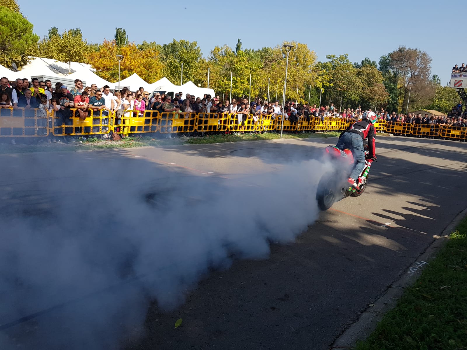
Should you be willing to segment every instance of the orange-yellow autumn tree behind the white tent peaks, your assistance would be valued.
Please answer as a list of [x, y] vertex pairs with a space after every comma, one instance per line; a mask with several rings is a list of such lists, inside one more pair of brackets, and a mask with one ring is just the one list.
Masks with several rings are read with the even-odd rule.
[[118, 80], [116, 55], [123, 56], [120, 63], [120, 79], [136, 73], [151, 84], [163, 77], [164, 65], [160, 60], [159, 51], [154, 47], [140, 50], [134, 42], [118, 47], [115, 40], [105, 40], [99, 51], [89, 53], [87, 58], [99, 77], [114, 82]]

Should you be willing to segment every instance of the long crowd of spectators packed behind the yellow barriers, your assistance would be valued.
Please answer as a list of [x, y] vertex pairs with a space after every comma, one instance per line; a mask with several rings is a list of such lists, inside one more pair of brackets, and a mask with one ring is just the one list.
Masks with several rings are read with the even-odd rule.
[[[453, 67], [453, 71], [455, 70], [464, 71], [467, 68], [462, 63], [461, 67], [457, 67], [457, 65]], [[307, 121], [310, 121], [313, 117], [318, 117], [321, 122], [324, 122], [326, 118], [341, 118], [349, 122], [361, 119], [363, 112], [365, 112], [360, 106], [344, 108], [339, 111], [333, 103], [317, 107], [315, 104], [287, 102], [283, 108], [279, 101], [263, 101], [259, 97], [256, 97], [253, 101], [250, 101], [248, 96], [233, 98], [232, 101], [221, 101], [218, 95], [214, 98], [208, 94], [197, 97], [190, 94], [183, 95], [182, 91], [175, 93], [175, 96], [171, 96], [158, 92], [149, 93], [143, 87], [134, 92], [129, 91], [127, 87], [123, 87], [121, 91], [113, 93], [108, 85], [101, 88], [96, 84], [84, 87], [80, 79], [74, 81], [74, 87], [72, 88], [60, 82], [52, 86], [50, 80], [39, 81], [37, 78], [32, 79], [32, 84], [29, 83], [27, 78], [16, 79], [15, 85], [10, 86], [7, 77], [2, 77], [0, 83], [0, 114], [1, 108], [34, 108], [38, 109], [39, 115], [42, 116], [46, 115], [47, 111], [54, 111], [56, 116], [55, 126], [72, 125], [70, 121], [73, 113], [71, 108], [76, 108], [78, 114], [75, 113], [75, 116], [82, 119], [96, 115], [106, 117], [111, 113], [115, 113], [116, 116], [120, 117], [143, 117], [147, 111], [180, 113], [184, 114], [185, 118], [188, 118], [189, 113], [228, 113], [231, 118], [235, 119], [236, 123], [242, 126], [245, 125], [246, 120], [256, 121], [260, 115], [268, 115], [271, 119], [283, 116], [284, 119], [290, 120], [291, 123], [297, 123], [302, 117]], [[460, 102], [453, 107], [448, 116], [435, 117], [429, 113], [425, 113], [425, 115], [421, 113], [417, 115], [414, 113], [397, 114], [396, 112], [389, 113], [389, 111], [383, 109], [375, 111], [375, 113], [378, 119], [387, 122], [466, 126], [467, 111], [462, 112], [462, 110], [462, 102]], [[107, 125], [108, 123], [108, 118], [104, 118], [102, 124]], [[104, 127], [103, 130], [109, 131], [109, 128]], [[85, 130], [85, 132], [89, 133], [90, 130]], [[230, 131], [227, 130], [226, 133], [230, 133]], [[110, 132], [99, 137], [108, 138], [109, 136]], [[181, 137], [185, 136], [187, 134], [181, 134]], [[171, 138], [172, 135], [168, 133], [166, 137]], [[69, 138], [69, 140], [76, 141], [74, 138]]]

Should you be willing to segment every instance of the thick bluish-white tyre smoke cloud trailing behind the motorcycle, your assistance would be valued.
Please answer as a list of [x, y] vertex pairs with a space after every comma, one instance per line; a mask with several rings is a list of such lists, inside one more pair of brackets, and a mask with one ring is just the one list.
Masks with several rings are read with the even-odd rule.
[[70, 158], [15, 160], [0, 182], [0, 349], [118, 349], [149, 301], [177, 307], [210, 268], [265, 258], [318, 215], [317, 160], [248, 186], [113, 153]]

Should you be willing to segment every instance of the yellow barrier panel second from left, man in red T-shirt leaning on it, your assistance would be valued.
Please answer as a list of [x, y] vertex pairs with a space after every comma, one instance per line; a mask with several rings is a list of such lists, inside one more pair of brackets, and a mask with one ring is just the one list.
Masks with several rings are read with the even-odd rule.
[[[66, 110], [65, 110], [66, 111]], [[78, 110], [52, 111], [52, 134], [54, 136], [82, 136], [109, 133], [110, 112], [106, 110], [88, 111], [88, 116], [83, 120], [78, 116]]]

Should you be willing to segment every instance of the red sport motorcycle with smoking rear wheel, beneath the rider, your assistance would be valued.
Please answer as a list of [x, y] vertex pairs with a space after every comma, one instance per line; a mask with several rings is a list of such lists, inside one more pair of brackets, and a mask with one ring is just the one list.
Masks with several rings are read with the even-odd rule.
[[[368, 157], [368, 144], [364, 145], [365, 149], [365, 168], [358, 176], [357, 185], [358, 189], [349, 186], [347, 179], [348, 175], [354, 167], [354, 156], [350, 149], [343, 151], [335, 146], [327, 146], [325, 148], [325, 156], [331, 157], [334, 163], [333, 168], [339, 168], [340, 171], [332, 171], [326, 173], [321, 177], [318, 183], [318, 191], [316, 199], [318, 201], [319, 209], [328, 210], [335, 202], [348, 196], [358, 197], [365, 192], [368, 184], [368, 172], [370, 171], [371, 164], [374, 160]], [[342, 171], [342, 169], [344, 171]]]

